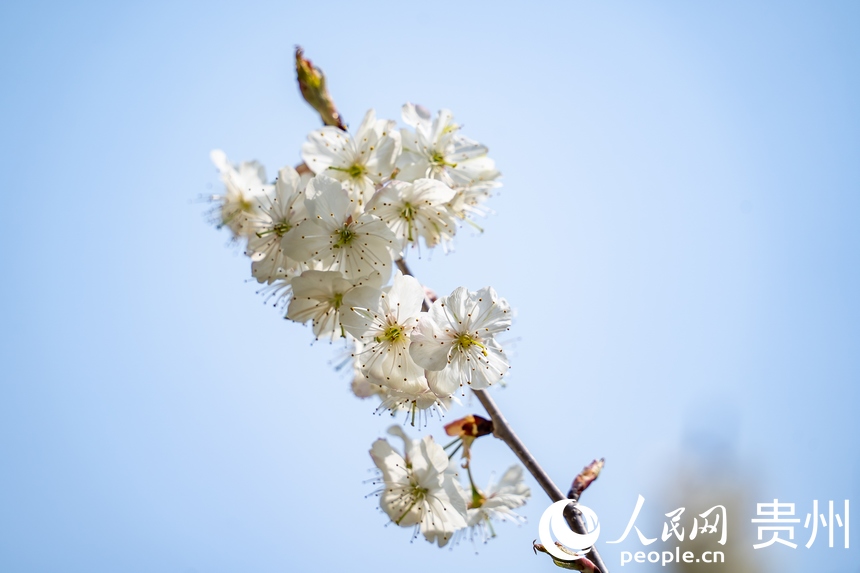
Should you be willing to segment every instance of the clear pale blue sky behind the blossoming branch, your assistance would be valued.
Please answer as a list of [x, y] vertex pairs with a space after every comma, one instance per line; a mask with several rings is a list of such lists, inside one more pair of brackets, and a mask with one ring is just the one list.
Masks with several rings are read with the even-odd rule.
[[[213, 148], [298, 163], [295, 44], [353, 126], [414, 101], [490, 147], [485, 232], [408, 260], [515, 307], [495, 396], [561, 487], [606, 457], [583, 502], [613, 570], [639, 494], [650, 536], [679, 506], [860, 512], [858, 25], [853, 2], [4, 3], [0, 570], [555, 570], [534, 482], [477, 556], [384, 526], [363, 480], [390, 420], [195, 202]], [[514, 462], [477, 448], [480, 482]], [[841, 532], [750, 563], [855, 571]]]

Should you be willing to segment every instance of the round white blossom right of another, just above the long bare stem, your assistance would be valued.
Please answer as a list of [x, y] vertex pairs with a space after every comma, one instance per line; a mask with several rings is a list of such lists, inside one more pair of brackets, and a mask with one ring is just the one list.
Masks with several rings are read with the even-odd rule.
[[419, 366], [436, 372], [437, 391], [454, 393], [464, 384], [483, 389], [508, 371], [495, 335], [510, 325], [508, 303], [493, 288], [460, 287], [422, 314], [409, 350]]

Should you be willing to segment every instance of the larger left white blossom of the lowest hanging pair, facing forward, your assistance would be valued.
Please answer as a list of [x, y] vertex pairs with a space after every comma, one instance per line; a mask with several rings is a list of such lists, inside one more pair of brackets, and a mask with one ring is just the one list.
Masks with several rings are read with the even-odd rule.
[[416, 527], [427, 541], [445, 546], [454, 532], [466, 527], [462, 488], [448, 456], [431, 436], [411, 440], [399, 426], [389, 433], [403, 438], [404, 452], [387, 440], [373, 443], [370, 457], [379, 468], [379, 507], [400, 527]]

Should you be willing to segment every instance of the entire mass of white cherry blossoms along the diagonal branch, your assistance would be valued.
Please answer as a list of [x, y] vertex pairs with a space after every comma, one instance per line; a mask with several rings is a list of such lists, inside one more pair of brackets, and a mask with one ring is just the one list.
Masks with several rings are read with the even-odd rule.
[[[378, 396], [377, 410], [405, 411], [414, 425], [416, 414], [441, 413], [466, 388], [502, 379], [509, 363], [496, 336], [510, 328], [511, 313], [491, 287], [435, 298], [400, 270], [410, 248], [448, 251], [500, 186], [487, 148], [462, 135], [449, 111], [431, 117], [406, 104], [402, 120], [398, 130], [370, 110], [353, 133], [315, 130], [303, 163], [274, 182], [257, 162], [234, 165], [213, 151], [224, 192], [212, 199], [216, 223], [242, 245], [267, 300], [310, 324], [317, 339], [345, 339], [353, 392]], [[486, 491], [469, 473], [466, 490], [431, 437], [390, 432], [403, 452], [377, 440], [371, 457], [380, 507], [394, 523], [442, 546], [457, 531], [487, 539], [491, 520], [520, 520], [511, 509], [529, 495], [521, 469]], [[468, 458], [461, 467], [468, 470]]]

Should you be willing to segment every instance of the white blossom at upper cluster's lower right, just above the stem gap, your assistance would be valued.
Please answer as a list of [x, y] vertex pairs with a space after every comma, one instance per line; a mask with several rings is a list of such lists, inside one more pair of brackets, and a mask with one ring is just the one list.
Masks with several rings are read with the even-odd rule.
[[435, 247], [449, 242], [457, 231], [454, 211], [448, 206], [454, 197], [453, 189], [435, 179], [392, 181], [371, 199], [367, 212], [385, 221], [401, 249], [417, 245], [419, 237]]

